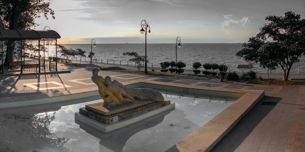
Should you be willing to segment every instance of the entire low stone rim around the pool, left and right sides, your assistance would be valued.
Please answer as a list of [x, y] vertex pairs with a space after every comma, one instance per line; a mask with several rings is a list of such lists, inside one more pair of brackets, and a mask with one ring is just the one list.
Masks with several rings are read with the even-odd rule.
[[[234, 101], [228, 108], [201, 126], [199, 129], [176, 143], [169, 152], [209, 152], [229, 131], [265, 96], [264, 90], [243, 90], [218, 87], [197, 86], [188, 84], [166, 83], [148, 80], [136, 80], [122, 83], [127, 87], [150, 87], [168, 92], [182, 93], [182, 96], [212, 98], [214, 100]], [[0, 108], [16, 106], [56, 103], [82, 99], [83, 102], [100, 99], [97, 88], [95, 91], [75, 93], [71, 95], [41, 98], [27, 101], [0, 103]]]

